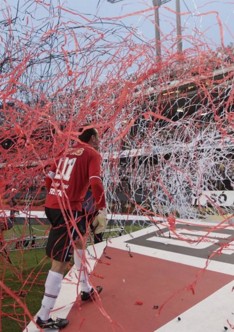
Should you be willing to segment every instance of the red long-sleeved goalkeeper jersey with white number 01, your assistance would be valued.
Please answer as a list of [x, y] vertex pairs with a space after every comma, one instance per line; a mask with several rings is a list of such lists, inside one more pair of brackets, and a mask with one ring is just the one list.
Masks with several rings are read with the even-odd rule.
[[45, 206], [82, 211], [82, 202], [91, 183], [97, 208], [105, 207], [101, 162], [99, 152], [86, 143], [61, 154], [46, 179], [48, 194]]

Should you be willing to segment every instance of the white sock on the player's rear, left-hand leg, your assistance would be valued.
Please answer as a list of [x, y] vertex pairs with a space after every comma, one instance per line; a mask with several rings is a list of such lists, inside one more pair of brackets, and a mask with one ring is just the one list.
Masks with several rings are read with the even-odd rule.
[[61, 289], [63, 274], [49, 270], [45, 282], [44, 297], [39, 310], [41, 320], [48, 320], [50, 311], [54, 308], [55, 302]]

